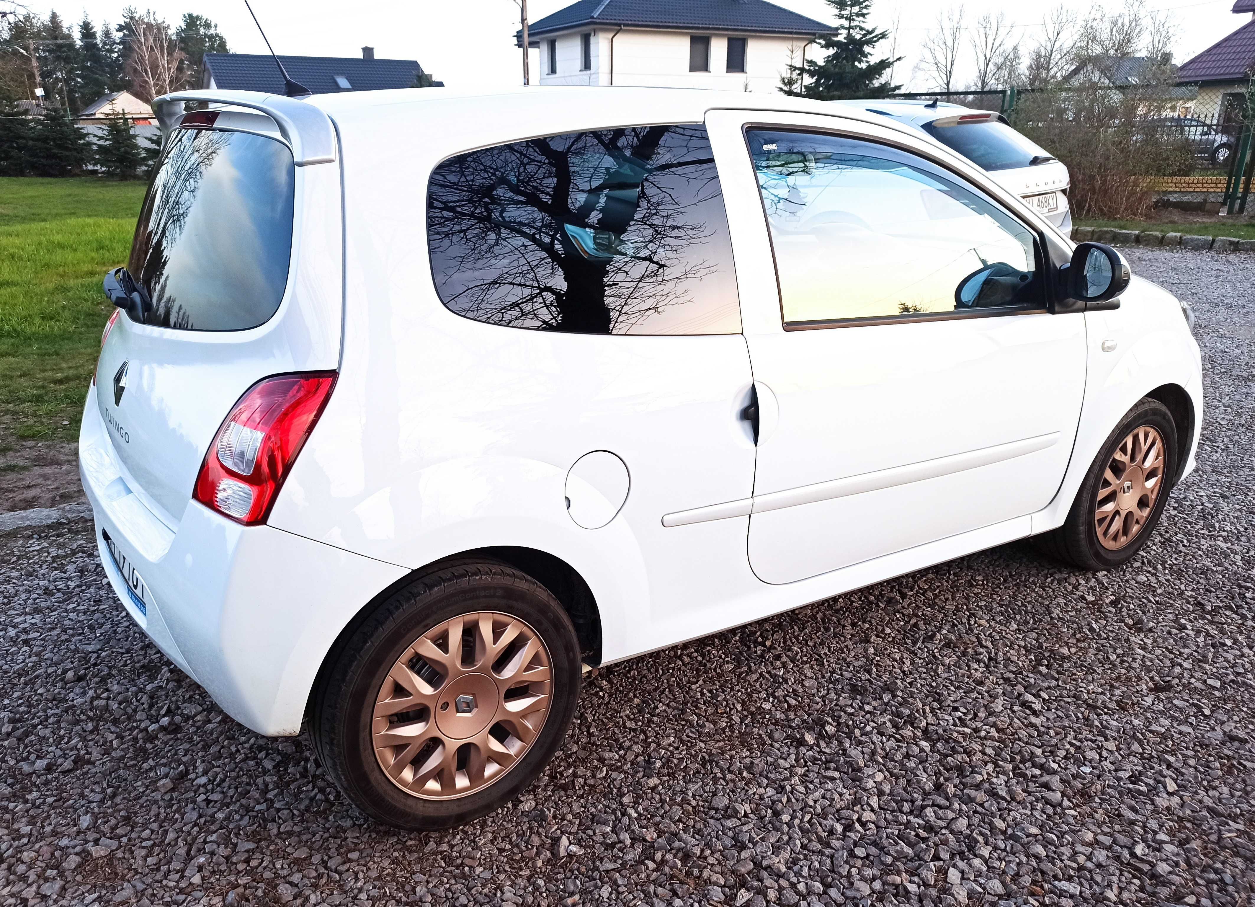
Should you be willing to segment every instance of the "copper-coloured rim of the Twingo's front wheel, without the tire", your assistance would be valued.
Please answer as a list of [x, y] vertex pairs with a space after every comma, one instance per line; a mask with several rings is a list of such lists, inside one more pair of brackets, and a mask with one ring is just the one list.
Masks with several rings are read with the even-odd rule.
[[1098, 543], [1118, 551], [1137, 538], [1162, 487], [1163, 436], [1147, 425], [1133, 428], [1112, 454], [1098, 485]]

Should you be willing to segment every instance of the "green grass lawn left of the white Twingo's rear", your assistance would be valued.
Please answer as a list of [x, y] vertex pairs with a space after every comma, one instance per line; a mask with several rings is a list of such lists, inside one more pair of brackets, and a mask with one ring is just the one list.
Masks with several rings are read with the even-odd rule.
[[144, 183], [0, 177], [0, 426], [74, 440]]

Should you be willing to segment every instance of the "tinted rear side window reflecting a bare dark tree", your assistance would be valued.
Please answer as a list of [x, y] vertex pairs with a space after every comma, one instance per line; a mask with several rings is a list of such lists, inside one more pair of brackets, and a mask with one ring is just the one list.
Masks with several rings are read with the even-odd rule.
[[427, 201], [441, 300], [488, 324], [734, 334], [740, 310], [705, 129], [579, 132], [459, 155]]

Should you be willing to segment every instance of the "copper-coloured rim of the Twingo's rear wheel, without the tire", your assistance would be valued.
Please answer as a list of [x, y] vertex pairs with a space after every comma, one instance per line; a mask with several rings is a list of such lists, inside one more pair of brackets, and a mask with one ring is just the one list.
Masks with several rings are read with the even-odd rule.
[[415, 639], [379, 687], [375, 759], [408, 794], [466, 796], [522, 759], [551, 698], [550, 654], [535, 629], [494, 611], [454, 617]]

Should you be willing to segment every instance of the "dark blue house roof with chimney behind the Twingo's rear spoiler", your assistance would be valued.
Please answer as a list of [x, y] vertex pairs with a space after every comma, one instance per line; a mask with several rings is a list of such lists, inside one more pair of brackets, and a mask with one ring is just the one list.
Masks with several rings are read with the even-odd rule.
[[[361, 57], [279, 55], [292, 80], [314, 94], [375, 92], [384, 88], [439, 87], [418, 60], [375, 59], [374, 48], [361, 48]], [[201, 88], [240, 92], [284, 93], [284, 77], [269, 54], [205, 54]]]

